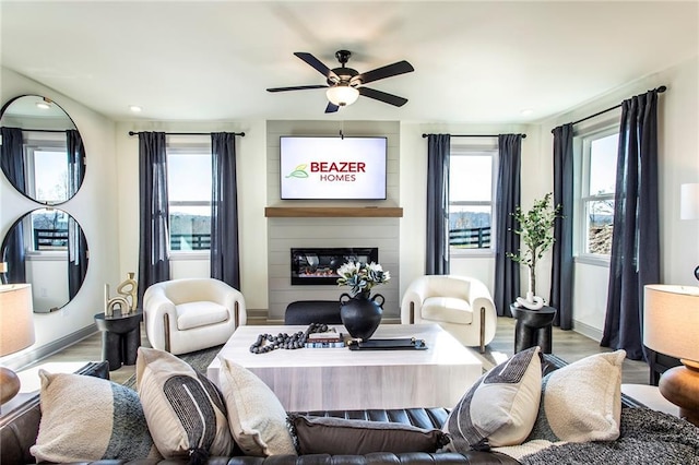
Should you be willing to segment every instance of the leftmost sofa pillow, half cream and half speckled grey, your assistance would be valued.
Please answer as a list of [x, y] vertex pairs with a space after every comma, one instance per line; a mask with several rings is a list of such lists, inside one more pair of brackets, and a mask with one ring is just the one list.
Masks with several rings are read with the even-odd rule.
[[139, 395], [100, 378], [39, 370], [37, 462], [159, 458]]

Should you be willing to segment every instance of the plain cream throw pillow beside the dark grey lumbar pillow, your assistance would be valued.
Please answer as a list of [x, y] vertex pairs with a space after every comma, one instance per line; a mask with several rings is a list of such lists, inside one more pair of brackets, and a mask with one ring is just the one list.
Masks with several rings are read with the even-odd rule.
[[228, 407], [228, 422], [246, 455], [294, 454], [286, 410], [274, 392], [245, 367], [220, 357], [218, 384]]

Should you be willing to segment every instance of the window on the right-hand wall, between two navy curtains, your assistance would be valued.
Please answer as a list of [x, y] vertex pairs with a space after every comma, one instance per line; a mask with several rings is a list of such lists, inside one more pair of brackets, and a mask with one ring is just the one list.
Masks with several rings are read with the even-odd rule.
[[612, 253], [618, 141], [618, 128], [582, 138], [578, 249], [583, 255]]

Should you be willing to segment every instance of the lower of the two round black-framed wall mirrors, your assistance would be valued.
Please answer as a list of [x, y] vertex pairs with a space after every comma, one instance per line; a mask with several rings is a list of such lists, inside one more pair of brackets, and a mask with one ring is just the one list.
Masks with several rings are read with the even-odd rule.
[[36, 313], [60, 309], [87, 273], [87, 241], [78, 222], [58, 208], [34, 210], [14, 222], [0, 248], [5, 284], [29, 283]]

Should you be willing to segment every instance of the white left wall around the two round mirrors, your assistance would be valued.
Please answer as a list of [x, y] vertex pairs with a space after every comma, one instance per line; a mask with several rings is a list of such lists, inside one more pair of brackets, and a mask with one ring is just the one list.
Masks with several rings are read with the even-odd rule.
[[[59, 311], [34, 314], [36, 343], [28, 349], [4, 357], [2, 363], [23, 363], [36, 350], [94, 324], [94, 314], [103, 311], [104, 284], [120, 282], [118, 261], [118, 199], [115, 174], [115, 124], [99, 114], [35, 81], [0, 69], [2, 104], [26, 94], [43, 95], [60, 105], [80, 131], [86, 152], [85, 179], [75, 196], [60, 205], [82, 226], [87, 238], [87, 276], [75, 298]], [[40, 206], [20, 194], [4, 176], [0, 179], [0, 237], [26, 212]]]

